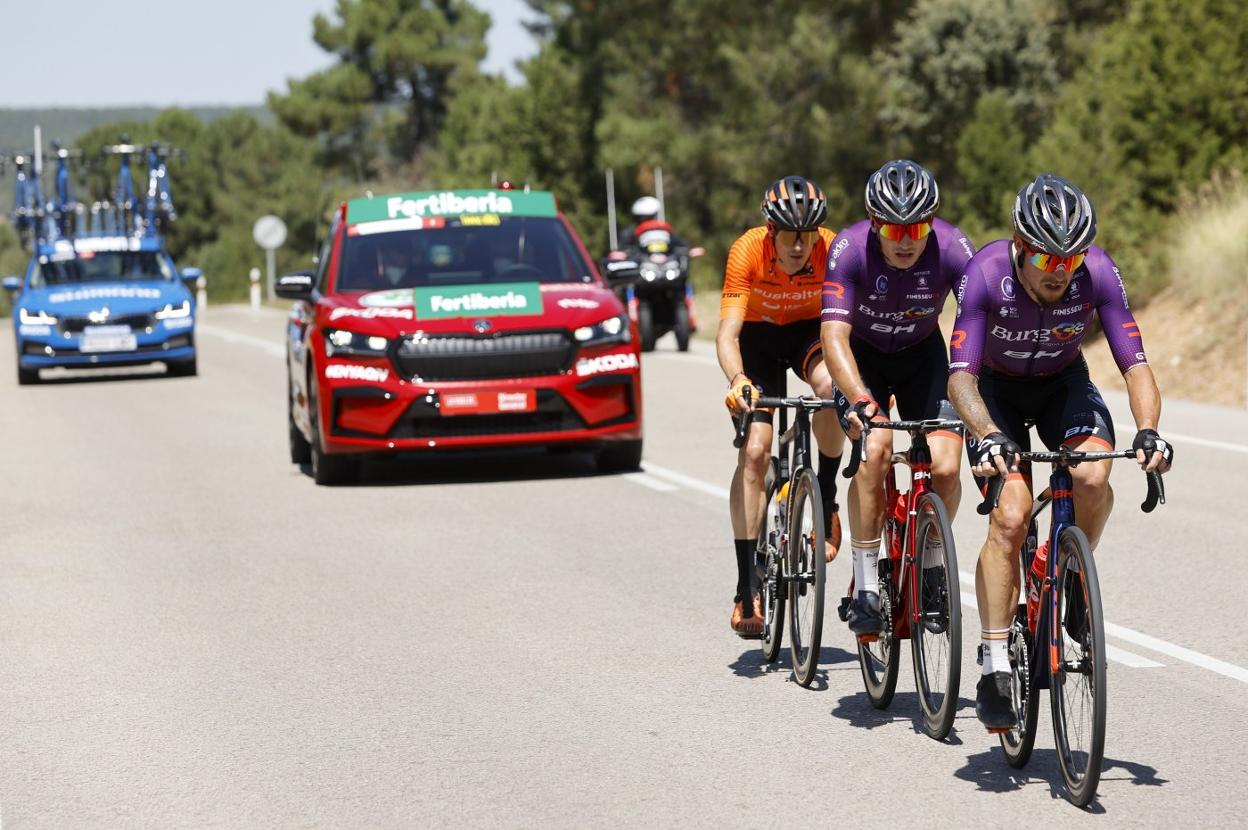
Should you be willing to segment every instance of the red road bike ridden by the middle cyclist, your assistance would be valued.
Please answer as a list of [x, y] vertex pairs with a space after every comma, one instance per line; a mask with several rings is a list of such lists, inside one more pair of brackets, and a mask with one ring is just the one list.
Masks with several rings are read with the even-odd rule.
[[[880, 612], [884, 632], [857, 638], [859, 665], [867, 698], [887, 709], [897, 689], [900, 642], [910, 639], [919, 708], [925, 734], [943, 740], [957, 711], [962, 666], [962, 610], [957, 552], [948, 509], [932, 489], [927, 434], [961, 429], [961, 421], [871, 421], [854, 441], [845, 477], [857, 473], [872, 429], [910, 433], [910, 449], [892, 453], [885, 476], [884, 545], [879, 560]], [[897, 482], [909, 481], [909, 491]], [[849, 619], [855, 585], [837, 613]]]

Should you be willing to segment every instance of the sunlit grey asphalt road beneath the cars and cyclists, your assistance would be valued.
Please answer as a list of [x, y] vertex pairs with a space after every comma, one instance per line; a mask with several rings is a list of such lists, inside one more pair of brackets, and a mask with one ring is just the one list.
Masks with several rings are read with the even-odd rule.
[[[2, 826], [1242, 826], [1248, 413], [1167, 403], [1152, 515], [1114, 473], [1106, 771], [1081, 813], [1047, 703], [1022, 771], [975, 720], [971, 608], [943, 744], [909, 654], [876, 711], [834, 617], [810, 690], [729, 632], [706, 344], [644, 361], [645, 473], [519, 453], [331, 489], [286, 461], [281, 336], [278, 312], [213, 307], [197, 378], [0, 371]], [[955, 528], [970, 574], [985, 524], [967, 502]]]

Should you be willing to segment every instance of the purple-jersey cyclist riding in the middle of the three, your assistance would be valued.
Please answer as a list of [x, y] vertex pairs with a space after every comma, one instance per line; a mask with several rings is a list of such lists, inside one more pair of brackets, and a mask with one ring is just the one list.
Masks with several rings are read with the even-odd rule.
[[[935, 218], [938, 205], [930, 172], [905, 159], [890, 161], [867, 180], [869, 218], [841, 231], [829, 253], [824, 359], [844, 393], [841, 417], [854, 437], [860, 418], [887, 414], [890, 396], [902, 418], [957, 418], [946, 396], [948, 357], [938, 318], [975, 248], [962, 231]], [[961, 496], [962, 438], [956, 429], [929, 438], [932, 484], [952, 515]], [[850, 486], [855, 595], [849, 623], [864, 637], [884, 627], [877, 560], [891, 457], [892, 433], [871, 433]], [[924, 555], [925, 565], [938, 565], [942, 554], [934, 548]], [[941, 573], [932, 567], [925, 578]]]

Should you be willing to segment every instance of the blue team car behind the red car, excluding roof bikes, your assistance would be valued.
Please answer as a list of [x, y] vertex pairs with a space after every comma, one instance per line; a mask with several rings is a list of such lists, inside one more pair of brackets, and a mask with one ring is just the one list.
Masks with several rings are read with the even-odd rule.
[[39, 242], [25, 277], [6, 277], [17, 381], [50, 367], [163, 362], [195, 374], [195, 298], [160, 238], [89, 236]]

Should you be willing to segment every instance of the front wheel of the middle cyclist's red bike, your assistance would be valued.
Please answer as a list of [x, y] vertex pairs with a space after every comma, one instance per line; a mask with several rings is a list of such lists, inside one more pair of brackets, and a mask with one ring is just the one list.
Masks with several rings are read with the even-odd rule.
[[[922, 729], [945, 740], [957, 713], [962, 678], [962, 595], [957, 575], [957, 553], [948, 510], [936, 493], [919, 499], [915, 555], [919, 558], [919, 620], [911, 625], [910, 647]], [[940, 563], [925, 562], [929, 548], [938, 547]], [[935, 557], [935, 550], [932, 553]]]

